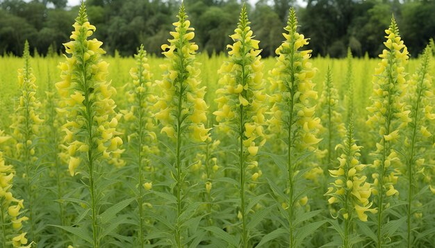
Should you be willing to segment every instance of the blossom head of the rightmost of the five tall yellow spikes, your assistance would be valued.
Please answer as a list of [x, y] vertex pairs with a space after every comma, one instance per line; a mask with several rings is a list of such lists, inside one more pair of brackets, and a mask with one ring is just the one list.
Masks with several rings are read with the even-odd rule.
[[[375, 185], [378, 185], [377, 181], [382, 180], [374, 193], [377, 194], [380, 191], [379, 193], [382, 195], [386, 193], [388, 196], [398, 193], [393, 184], [395, 183], [395, 168], [400, 164], [400, 158], [392, 147], [400, 139], [400, 130], [411, 121], [409, 118], [411, 111], [407, 110], [402, 101], [407, 88], [404, 65], [409, 59], [408, 50], [400, 39], [394, 18], [385, 33], [386, 42], [384, 45], [386, 49], [379, 55], [382, 60], [375, 69], [373, 94], [370, 97], [372, 105], [367, 107], [371, 115], [366, 123], [378, 131], [381, 138], [376, 143], [377, 150], [372, 153], [375, 157], [372, 166], [379, 171], [373, 175]], [[394, 163], [396, 166], [393, 166]]]

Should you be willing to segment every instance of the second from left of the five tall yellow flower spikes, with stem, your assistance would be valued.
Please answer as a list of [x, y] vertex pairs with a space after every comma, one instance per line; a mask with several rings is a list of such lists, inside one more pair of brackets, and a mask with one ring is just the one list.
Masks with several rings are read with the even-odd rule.
[[[160, 132], [172, 138], [168, 142], [173, 143], [175, 148], [176, 156], [172, 163], [177, 173], [172, 175], [172, 178], [178, 187], [174, 189], [174, 195], [180, 193], [186, 180], [182, 175], [185, 173], [183, 171], [184, 161], [188, 158], [183, 157], [185, 156], [184, 152], [181, 152], [183, 147], [193, 142], [200, 143], [210, 140], [209, 131], [211, 130], [205, 126], [208, 110], [204, 101], [206, 87], [201, 87], [199, 64], [195, 62], [198, 46], [192, 42], [195, 39], [194, 28], [190, 27], [183, 4], [179, 8], [177, 18], [174, 30], [170, 32], [173, 39], [168, 39], [168, 44], [161, 46], [165, 56], [165, 62], [161, 65], [163, 79], [156, 82], [161, 89], [161, 96], [158, 96], [153, 106]], [[220, 112], [220, 116], [231, 115], [228, 110]], [[190, 139], [186, 140], [185, 136]], [[175, 204], [181, 206], [184, 200], [177, 199]], [[179, 214], [177, 213], [177, 216]], [[185, 235], [184, 231], [180, 227], [177, 227], [175, 231], [180, 235], [174, 242], [181, 245], [181, 238]]]

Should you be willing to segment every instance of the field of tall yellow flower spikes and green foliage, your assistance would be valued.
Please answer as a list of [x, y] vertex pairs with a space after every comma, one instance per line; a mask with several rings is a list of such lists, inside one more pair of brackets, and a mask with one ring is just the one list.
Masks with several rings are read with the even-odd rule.
[[188, 11], [164, 57], [83, 4], [65, 56], [0, 57], [0, 247], [434, 247], [433, 40], [311, 57], [292, 8], [262, 58], [243, 6], [209, 57]]

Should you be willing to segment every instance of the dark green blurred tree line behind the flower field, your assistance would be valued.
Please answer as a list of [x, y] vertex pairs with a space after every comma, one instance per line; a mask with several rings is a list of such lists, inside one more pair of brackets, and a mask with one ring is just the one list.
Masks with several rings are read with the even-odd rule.
[[[139, 44], [148, 53], [161, 55], [161, 44], [176, 21], [176, 0], [87, 0], [95, 36], [104, 41], [109, 54], [118, 51], [130, 56]], [[222, 53], [238, 19], [240, 1], [185, 0], [195, 27], [199, 51]], [[435, 1], [431, 0], [304, 0], [297, 6], [301, 32], [311, 38], [313, 55], [345, 57], [347, 47], [356, 56], [381, 53], [379, 40], [391, 15], [401, 27], [401, 35], [413, 57], [421, 53], [429, 38], [435, 37]], [[21, 55], [27, 39], [33, 51], [42, 55], [60, 53], [69, 39], [71, 21], [79, 7], [69, 8], [67, 0], [0, 0], [0, 53]], [[296, 2], [259, 0], [249, 6], [249, 17], [263, 57], [274, 55], [281, 43], [282, 26], [288, 9]]]

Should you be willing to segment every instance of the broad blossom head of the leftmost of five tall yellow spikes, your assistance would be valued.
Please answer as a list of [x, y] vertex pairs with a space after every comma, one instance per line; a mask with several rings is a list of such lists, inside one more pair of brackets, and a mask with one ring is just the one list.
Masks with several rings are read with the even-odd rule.
[[63, 99], [58, 111], [67, 118], [62, 130], [71, 175], [81, 164], [81, 154], [89, 154], [92, 149], [97, 152], [88, 159], [100, 156], [117, 159], [123, 143], [116, 130], [121, 115], [115, 113], [116, 105], [111, 98], [116, 90], [106, 81], [108, 63], [101, 59], [106, 52], [101, 48], [102, 42], [88, 39], [95, 26], [89, 23], [83, 4], [73, 27], [72, 41], [64, 44], [69, 56], [59, 65], [62, 81], [56, 83]]

